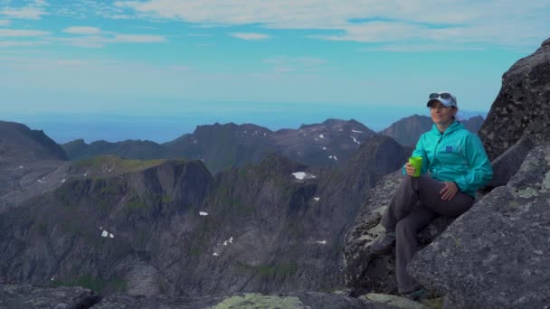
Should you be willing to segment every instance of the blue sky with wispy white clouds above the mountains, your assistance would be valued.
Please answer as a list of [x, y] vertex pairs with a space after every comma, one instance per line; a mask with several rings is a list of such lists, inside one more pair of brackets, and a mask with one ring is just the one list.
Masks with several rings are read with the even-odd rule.
[[0, 119], [384, 126], [439, 90], [488, 112], [548, 37], [547, 0], [0, 0]]

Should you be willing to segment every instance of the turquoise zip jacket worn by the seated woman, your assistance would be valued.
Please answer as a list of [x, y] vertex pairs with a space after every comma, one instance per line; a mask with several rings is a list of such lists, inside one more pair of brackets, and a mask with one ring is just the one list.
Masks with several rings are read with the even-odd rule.
[[[455, 182], [460, 192], [475, 198], [476, 190], [493, 177], [479, 137], [453, 122], [441, 134], [435, 124], [418, 140], [412, 156], [422, 156], [422, 174], [440, 182]], [[405, 174], [403, 166], [403, 174]]]

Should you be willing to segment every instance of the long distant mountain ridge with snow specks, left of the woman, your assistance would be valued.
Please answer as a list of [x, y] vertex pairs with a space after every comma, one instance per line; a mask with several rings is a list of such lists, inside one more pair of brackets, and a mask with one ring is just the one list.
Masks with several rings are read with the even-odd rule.
[[149, 141], [109, 143], [82, 140], [62, 145], [71, 159], [94, 155], [119, 155], [134, 159], [178, 158], [200, 159], [212, 173], [231, 167], [259, 163], [270, 153], [285, 155], [309, 166], [341, 164], [359, 145], [375, 132], [356, 120], [327, 119], [322, 124], [304, 125], [299, 129], [276, 132], [262, 126], [214, 124], [197, 126], [193, 134], [158, 145]]

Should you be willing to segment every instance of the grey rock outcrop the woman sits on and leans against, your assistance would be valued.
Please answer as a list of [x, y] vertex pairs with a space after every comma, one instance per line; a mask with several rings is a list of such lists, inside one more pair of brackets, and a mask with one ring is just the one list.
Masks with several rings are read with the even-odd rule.
[[[479, 131], [495, 171], [488, 190], [458, 220], [440, 218], [420, 231], [421, 244], [431, 244], [408, 271], [434, 295], [446, 295], [445, 308], [549, 307], [549, 101], [550, 39], [504, 74]], [[362, 292], [395, 290], [394, 252], [368, 253], [398, 184], [393, 177], [369, 195], [346, 234], [346, 284]]]

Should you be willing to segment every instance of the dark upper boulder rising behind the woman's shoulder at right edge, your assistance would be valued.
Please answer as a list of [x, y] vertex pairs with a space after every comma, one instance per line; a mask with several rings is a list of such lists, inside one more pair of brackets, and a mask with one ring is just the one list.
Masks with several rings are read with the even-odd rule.
[[550, 141], [550, 39], [517, 61], [502, 77], [502, 88], [479, 129], [492, 161], [520, 138]]

